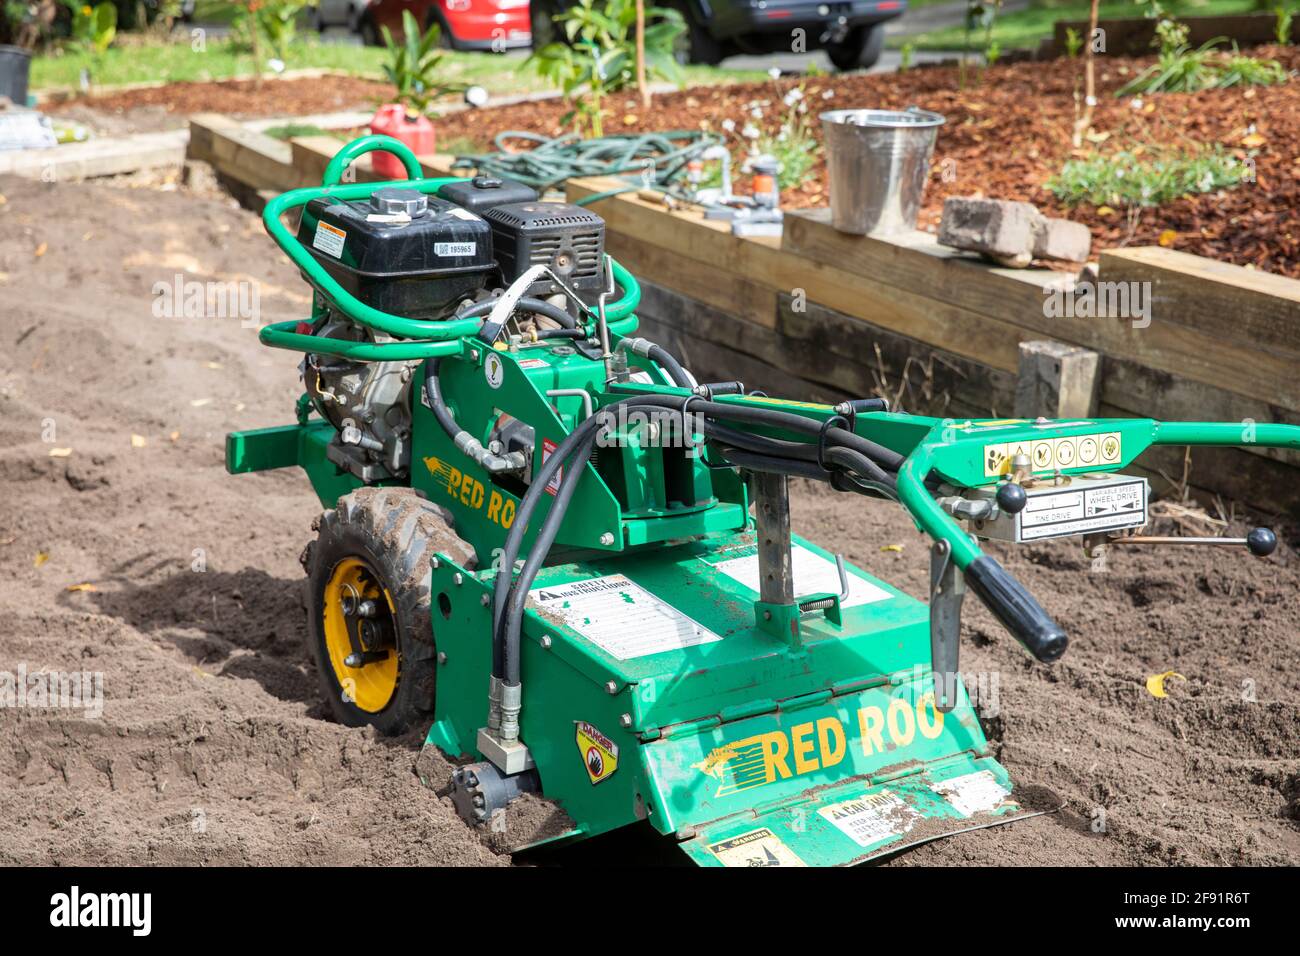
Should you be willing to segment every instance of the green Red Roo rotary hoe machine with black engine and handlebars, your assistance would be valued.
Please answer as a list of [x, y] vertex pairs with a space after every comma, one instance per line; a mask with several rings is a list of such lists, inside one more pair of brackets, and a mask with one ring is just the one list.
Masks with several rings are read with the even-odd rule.
[[[376, 150], [410, 178], [341, 182]], [[1040, 812], [961, 680], [966, 591], [1039, 661], [1066, 632], [980, 541], [1139, 540], [1123, 468], [1152, 445], [1300, 447], [1279, 424], [954, 421], [697, 381], [636, 336], [599, 216], [421, 178], [385, 137], [265, 225], [315, 290], [261, 330], [303, 352], [304, 394], [295, 424], [230, 434], [228, 470], [307, 472], [324, 693], [350, 726], [428, 726], [471, 826], [538, 793], [568, 839], [649, 821], [702, 865], [812, 866]], [[845, 520], [853, 494], [906, 509], [928, 605], [794, 535], [792, 476], [845, 493]]]

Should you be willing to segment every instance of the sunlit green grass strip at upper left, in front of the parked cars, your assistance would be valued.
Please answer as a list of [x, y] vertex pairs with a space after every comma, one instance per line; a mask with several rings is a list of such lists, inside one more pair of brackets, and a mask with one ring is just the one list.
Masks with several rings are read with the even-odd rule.
[[[229, 39], [208, 40], [203, 51], [191, 49], [188, 39], [177, 42], [140, 42], [131, 38], [129, 47], [112, 47], [103, 62], [83, 51], [64, 51], [36, 56], [31, 61], [31, 88], [75, 87], [81, 69], [91, 70], [96, 86], [121, 83], [181, 82], [222, 79], [254, 72], [252, 56]], [[359, 77], [382, 79], [381, 65], [387, 55], [382, 47], [359, 47], [320, 43], [307, 35], [294, 43], [286, 69], [335, 69]], [[550, 86], [532, 70], [520, 69], [524, 57], [517, 55], [448, 52], [443, 74], [451, 82], [477, 83], [493, 94], [533, 92]], [[719, 70], [710, 66], [685, 68], [688, 86], [728, 81], [762, 79], [766, 74], [741, 70]]]

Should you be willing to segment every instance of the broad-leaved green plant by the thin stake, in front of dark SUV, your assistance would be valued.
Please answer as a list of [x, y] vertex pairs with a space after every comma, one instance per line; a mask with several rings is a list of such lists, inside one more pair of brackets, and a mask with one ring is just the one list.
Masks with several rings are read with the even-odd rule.
[[[673, 9], [645, 9], [646, 77], [681, 83], [675, 46], [686, 23]], [[562, 122], [603, 135], [604, 98], [636, 82], [636, 0], [578, 0], [556, 14], [568, 43], [549, 43], [524, 66], [560, 87], [573, 109]], [[577, 96], [578, 91], [585, 91]]]

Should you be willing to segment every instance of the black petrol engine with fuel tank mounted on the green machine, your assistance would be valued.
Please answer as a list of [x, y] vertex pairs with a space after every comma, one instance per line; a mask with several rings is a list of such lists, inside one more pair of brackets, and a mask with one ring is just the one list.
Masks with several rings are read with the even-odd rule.
[[[545, 265], [547, 273], [526, 295], [550, 297], [551, 310], [566, 308], [564, 287], [594, 300], [604, 284], [599, 216], [567, 203], [537, 202], [528, 186], [489, 177], [443, 186], [437, 196], [386, 186], [368, 200], [313, 199], [298, 238], [347, 293], [406, 319], [484, 315], [532, 265]], [[311, 334], [393, 341], [352, 323], [324, 290], [316, 291]], [[529, 300], [519, 311], [526, 311]], [[411, 382], [419, 364], [304, 358], [307, 394], [338, 429], [328, 449], [332, 462], [367, 483], [407, 473]]]

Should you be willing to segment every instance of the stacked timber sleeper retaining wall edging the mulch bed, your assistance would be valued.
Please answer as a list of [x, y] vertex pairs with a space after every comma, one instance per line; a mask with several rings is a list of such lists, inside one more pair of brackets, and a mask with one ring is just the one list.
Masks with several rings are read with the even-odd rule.
[[[191, 126], [191, 156], [263, 196], [318, 183], [341, 146], [237, 133], [224, 117], [195, 122], [203, 129]], [[447, 156], [421, 163], [430, 176], [450, 169]], [[358, 178], [368, 176], [359, 169]], [[575, 179], [567, 193], [576, 200], [618, 185]], [[707, 380], [1005, 416], [1020, 342], [1056, 339], [1101, 355], [1098, 415], [1242, 421], [1243, 433], [1251, 421], [1300, 424], [1296, 280], [1158, 247], [1104, 251], [1101, 281], [1149, 284], [1150, 324], [1135, 328], [1122, 317], [1050, 317], [1044, 303], [1072, 284], [1069, 273], [988, 265], [922, 232], [845, 235], [826, 209], [786, 213], [781, 239], [741, 239], [698, 212], [636, 194], [593, 208], [606, 220], [608, 251], [644, 285], [642, 334]], [[1182, 449], [1153, 449], [1143, 462], [1162, 492], [1188, 467]], [[1300, 514], [1300, 453], [1195, 449], [1187, 473], [1196, 489]]]

